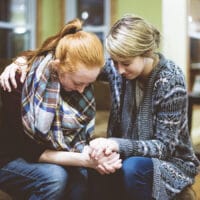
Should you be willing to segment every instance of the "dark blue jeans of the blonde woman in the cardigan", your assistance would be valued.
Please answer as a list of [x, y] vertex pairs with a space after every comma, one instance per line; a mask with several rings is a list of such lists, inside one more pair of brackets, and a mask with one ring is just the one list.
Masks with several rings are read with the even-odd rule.
[[90, 200], [152, 200], [152, 182], [151, 158], [130, 157], [113, 174], [89, 170]]

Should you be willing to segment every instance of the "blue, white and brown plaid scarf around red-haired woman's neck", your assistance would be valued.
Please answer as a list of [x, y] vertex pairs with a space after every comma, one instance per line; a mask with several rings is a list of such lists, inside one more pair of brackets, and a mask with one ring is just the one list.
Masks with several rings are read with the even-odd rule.
[[48, 148], [81, 152], [94, 131], [95, 100], [92, 86], [82, 94], [61, 89], [51, 71], [52, 54], [32, 64], [22, 90], [25, 133]]

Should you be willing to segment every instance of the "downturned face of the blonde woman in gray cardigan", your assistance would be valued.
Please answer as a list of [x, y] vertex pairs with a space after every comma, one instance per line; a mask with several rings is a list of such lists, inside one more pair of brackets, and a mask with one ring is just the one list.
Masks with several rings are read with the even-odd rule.
[[142, 56], [135, 56], [127, 60], [113, 61], [118, 72], [126, 79], [132, 80], [149, 74], [149, 67], [153, 63], [153, 59], [151, 59], [152, 61], [149, 59]]

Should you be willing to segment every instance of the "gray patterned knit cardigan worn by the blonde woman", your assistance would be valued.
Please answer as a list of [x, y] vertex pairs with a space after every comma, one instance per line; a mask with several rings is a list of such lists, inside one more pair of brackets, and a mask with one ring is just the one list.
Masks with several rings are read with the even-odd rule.
[[119, 143], [123, 159], [152, 158], [152, 196], [174, 199], [194, 182], [196, 158], [187, 120], [187, 89], [180, 68], [159, 54], [160, 61], [145, 81], [144, 97], [135, 106], [135, 82], [121, 77], [107, 60], [100, 79], [110, 82], [112, 107], [108, 137]]

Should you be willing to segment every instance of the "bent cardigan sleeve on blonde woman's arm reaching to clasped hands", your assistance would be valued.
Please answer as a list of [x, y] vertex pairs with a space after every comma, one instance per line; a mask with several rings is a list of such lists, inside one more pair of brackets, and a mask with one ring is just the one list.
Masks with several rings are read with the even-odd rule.
[[191, 160], [193, 149], [187, 127], [187, 90], [181, 73], [157, 80], [153, 92], [152, 116], [154, 132], [151, 139], [113, 138], [119, 144], [122, 157], [167, 159], [173, 156]]

